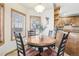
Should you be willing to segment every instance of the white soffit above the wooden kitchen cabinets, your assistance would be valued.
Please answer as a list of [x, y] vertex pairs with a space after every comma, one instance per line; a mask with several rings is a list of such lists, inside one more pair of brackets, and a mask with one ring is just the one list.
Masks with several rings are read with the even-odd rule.
[[61, 3], [61, 17], [79, 16], [79, 3]]

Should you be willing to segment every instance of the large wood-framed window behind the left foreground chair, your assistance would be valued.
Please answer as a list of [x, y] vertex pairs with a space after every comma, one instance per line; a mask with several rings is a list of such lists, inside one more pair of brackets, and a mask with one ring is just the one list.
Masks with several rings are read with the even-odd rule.
[[21, 33], [23, 37], [25, 37], [26, 31], [25, 31], [25, 14], [18, 12], [14, 9], [12, 9], [12, 28], [11, 28], [11, 34], [12, 34], [12, 40], [14, 40], [14, 32]]

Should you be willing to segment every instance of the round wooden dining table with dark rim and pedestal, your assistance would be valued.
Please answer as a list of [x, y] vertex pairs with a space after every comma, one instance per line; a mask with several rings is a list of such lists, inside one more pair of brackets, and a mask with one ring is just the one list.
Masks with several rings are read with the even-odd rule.
[[52, 37], [29, 37], [27, 40], [27, 44], [31, 47], [37, 47], [39, 52], [43, 52], [44, 47], [54, 47], [55, 48], [56, 39]]

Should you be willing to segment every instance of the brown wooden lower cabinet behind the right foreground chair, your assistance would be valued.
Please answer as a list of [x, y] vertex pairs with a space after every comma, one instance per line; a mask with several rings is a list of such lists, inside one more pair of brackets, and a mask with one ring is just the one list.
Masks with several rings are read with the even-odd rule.
[[70, 33], [65, 52], [72, 56], [79, 56], [79, 33]]

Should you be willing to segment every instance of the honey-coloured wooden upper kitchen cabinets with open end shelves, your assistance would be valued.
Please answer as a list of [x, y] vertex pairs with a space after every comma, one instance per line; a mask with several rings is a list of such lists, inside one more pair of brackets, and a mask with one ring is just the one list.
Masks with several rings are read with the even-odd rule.
[[54, 25], [63, 28], [65, 25], [79, 26], [79, 16], [60, 16], [60, 4], [54, 5]]

